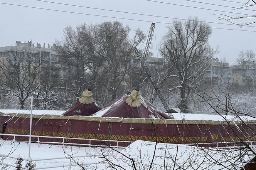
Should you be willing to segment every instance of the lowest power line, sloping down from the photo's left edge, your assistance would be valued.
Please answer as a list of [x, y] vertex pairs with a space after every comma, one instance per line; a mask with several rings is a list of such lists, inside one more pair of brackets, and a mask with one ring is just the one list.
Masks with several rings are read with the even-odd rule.
[[[35, 8], [35, 9], [41, 9], [41, 10], [49, 10], [49, 11], [55, 11], [55, 12], [65, 12], [65, 13], [74, 13], [74, 14], [81, 14], [81, 15], [90, 15], [90, 16], [96, 16], [96, 17], [106, 17], [106, 18], [115, 18], [115, 19], [123, 19], [123, 20], [132, 20], [132, 21], [141, 21], [141, 22], [155, 22], [155, 23], [162, 23], [162, 24], [170, 24], [173, 25], [173, 23], [168, 23], [168, 22], [157, 22], [157, 21], [149, 21], [149, 20], [139, 20], [139, 19], [131, 19], [131, 18], [122, 18], [122, 17], [111, 17], [111, 16], [106, 16], [106, 15], [96, 15], [96, 14], [91, 14], [91, 13], [80, 13], [80, 12], [71, 12], [71, 11], [64, 11], [64, 10], [55, 10], [55, 9], [49, 9], [49, 8], [40, 8], [40, 7], [31, 7], [31, 6], [26, 6], [26, 5], [18, 5], [18, 4], [12, 4], [12, 3], [3, 3], [0, 2], [0, 4], [4, 5], [12, 5], [12, 6], [18, 6], [18, 7], [26, 7], [26, 8]], [[177, 24], [177, 25], [182, 25], [183, 24]], [[202, 26], [198, 26], [202, 27]], [[202, 27], [205, 28], [205, 27]], [[238, 30], [238, 29], [231, 29], [231, 28], [219, 28], [219, 27], [209, 27], [212, 29], [219, 29], [219, 30], [234, 30], [234, 31], [244, 31], [244, 32], [256, 32], [253, 30]]]

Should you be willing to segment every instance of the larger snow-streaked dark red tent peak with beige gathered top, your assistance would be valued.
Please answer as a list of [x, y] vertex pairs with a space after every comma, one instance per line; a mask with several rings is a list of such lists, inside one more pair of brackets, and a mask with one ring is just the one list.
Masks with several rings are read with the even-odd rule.
[[102, 110], [98, 111], [94, 117], [122, 117], [122, 118], [165, 118], [170, 117], [153, 106], [143, 97], [140, 92], [133, 90], [114, 102], [107, 104]]

